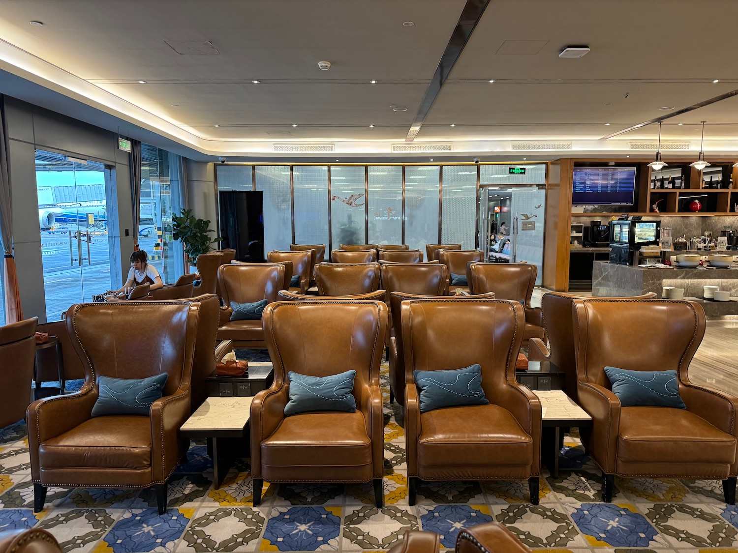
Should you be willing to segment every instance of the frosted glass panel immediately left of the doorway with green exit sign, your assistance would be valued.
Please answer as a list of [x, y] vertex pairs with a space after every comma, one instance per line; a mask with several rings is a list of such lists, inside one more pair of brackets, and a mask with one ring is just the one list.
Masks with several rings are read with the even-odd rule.
[[477, 167], [444, 165], [441, 243], [475, 249]]

